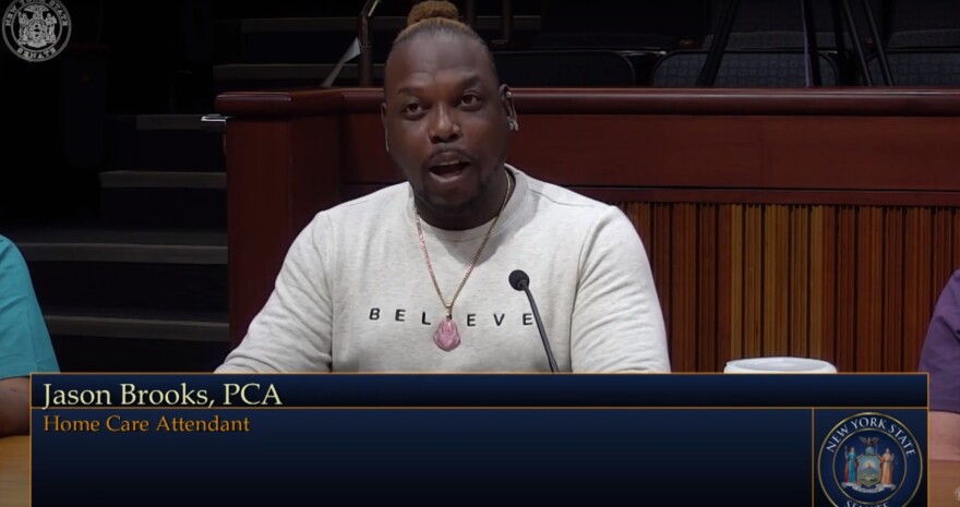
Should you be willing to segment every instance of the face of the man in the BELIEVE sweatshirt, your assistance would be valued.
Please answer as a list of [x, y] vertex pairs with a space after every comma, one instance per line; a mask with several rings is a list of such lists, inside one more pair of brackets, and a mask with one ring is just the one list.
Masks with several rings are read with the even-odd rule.
[[470, 38], [424, 34], [394, 51], [383, 124], [391, 157], [422, 205], [456, 216], [492, 198], [490, 183], [503, 178], [509, 144], [513, 106], [505, 95]]

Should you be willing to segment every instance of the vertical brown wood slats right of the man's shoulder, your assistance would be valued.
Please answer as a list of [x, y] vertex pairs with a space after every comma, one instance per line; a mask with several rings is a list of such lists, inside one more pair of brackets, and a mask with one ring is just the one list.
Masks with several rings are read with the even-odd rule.
[[946, 266], [960, 266], [960, 214], [943, 208], [680, 203], [659, 205], [650, 233], [649, 204], [619, 205], [660, 252], [651, 264], [676, 371], [783, 354], [912, 371]]

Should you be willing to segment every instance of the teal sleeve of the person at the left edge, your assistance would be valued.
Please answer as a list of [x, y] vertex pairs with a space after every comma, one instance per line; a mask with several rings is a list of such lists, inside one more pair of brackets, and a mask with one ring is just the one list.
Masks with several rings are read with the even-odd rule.
[[26, 262], [0, 236], [0, 378], [59, 371]]

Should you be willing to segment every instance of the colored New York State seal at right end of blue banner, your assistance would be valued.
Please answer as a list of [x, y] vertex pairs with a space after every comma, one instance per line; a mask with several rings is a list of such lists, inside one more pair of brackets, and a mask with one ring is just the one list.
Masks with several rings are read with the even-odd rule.
[[851, 415], [827, 435], [817, 459], [820, 487], [837, 507], [910, 504], [923, 456], [910, 430], [877, 412]]

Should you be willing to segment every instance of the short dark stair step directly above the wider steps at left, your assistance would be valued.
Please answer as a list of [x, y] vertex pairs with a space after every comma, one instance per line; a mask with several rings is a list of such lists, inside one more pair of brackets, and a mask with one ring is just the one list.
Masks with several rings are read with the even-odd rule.
[[227, 173], [108, 171], [100, 173], [105, 224], [152, 228], [227, 227]]

